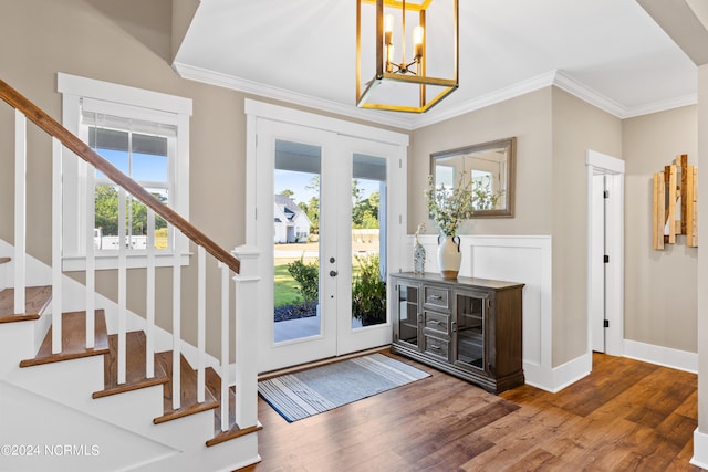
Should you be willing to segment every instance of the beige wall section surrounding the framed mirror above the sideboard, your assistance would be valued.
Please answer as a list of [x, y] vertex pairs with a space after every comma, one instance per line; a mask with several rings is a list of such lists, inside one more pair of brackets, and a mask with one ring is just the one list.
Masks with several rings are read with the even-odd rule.
[[517, 137], [517, 200], [514, 218], [480, 218], [466, 223], [464, 234], [550, 234], [551, 88], [529, 93], [412, 134], [408, 161], [408, 232], [428, 220], [424, 190], [430, 154], [462, 146]]

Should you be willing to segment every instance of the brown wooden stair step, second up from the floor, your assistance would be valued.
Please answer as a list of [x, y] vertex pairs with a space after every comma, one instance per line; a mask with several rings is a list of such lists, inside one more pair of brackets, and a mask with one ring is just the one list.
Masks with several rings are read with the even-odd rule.
[[181, 382], [181, 406], [173, 408], [173, 352], [167, 350], [155, 355], [155, 364], [160, 364], [167, 373], [169, 380], [163, 385], [164, 388], [164, 415], [153, 420], [155, 424], [183, 418], [200, 411], [211, 410], [219, 406], [214, 395], [208, 388], [205, 389], [205, 401], [197, 402], [197, 371], [191, 368], [185, 356], [180, 356], [180, 382]]

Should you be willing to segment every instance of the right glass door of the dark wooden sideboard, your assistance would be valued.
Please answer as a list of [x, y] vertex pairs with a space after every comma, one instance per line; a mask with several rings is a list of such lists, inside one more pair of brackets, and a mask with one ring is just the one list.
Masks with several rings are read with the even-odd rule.
[[465, 368], [485, 370], [487, 347], [485, 342], [485, 316], [487, 297], [470, 292], [455, 292], [455, 364]]

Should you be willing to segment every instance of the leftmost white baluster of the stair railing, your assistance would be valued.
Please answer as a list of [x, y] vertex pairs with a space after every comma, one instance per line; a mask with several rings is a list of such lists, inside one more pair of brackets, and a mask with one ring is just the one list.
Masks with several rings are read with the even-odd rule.
[[[14, 111], [14, 313], [24, 313], [27, 284], [27, 118]], [[61, 322], [60, 322], [61, 326]], [[59, 336], [61, 349], [61, 332]]]

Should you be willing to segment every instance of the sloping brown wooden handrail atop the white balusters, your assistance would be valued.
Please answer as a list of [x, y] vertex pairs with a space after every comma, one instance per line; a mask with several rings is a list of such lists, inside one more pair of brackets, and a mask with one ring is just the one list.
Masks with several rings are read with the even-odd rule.
[[62, 143], [62, 145], [64, 145], [67, 149], [73, 151], [76, 156], [79, 156], [86, 162], [94, 166], [97, 170], [108, 177], [114, 183], [123, 187], [138, 201], [143, 202], [148, 208], [152, 208], [157, 214], [163, 217], [165, 221], [179, 229], [191, 241], [201, 245], [209, 254], [227, 264], [233, 272], [239, 273], [239, 260], [236, 259], [230, 252], [226, 251], [219, 244], [214, 242], [211, 239], [209, 239], [209, 237], [195, 228], [189, 221], [184, 219], [174, 209], [164, 204], [162, 201], [155, 198], [155, 196], [145, 190], [143, 186], [127, 177], [115, 166], [101, 157], [101, 155], [88, 147], [88, 145], [79, 139], [73, 133], [64, 128], [54, 118], [49, 116], [40, 107], [34, 105], [32, 102], [30, 102], [2, 80], [0, 80], [0, 98], [7, 102], [10, 106], [22, 112], [24, 116], [27, 116], [27, 118], [34, 123], [39, 128], [59, 139], [60, 143]]

